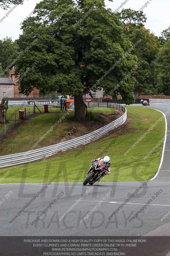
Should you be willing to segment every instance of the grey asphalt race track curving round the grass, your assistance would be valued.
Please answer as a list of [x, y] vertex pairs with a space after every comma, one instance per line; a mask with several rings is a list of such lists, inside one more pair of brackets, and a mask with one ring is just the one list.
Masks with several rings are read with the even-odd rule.
[[[170, 104], [151, 104], [147, 108], [155, 108], [165, 113], [170, 108]], [[170, 114], [166, 115], [166, 119], [168, 135]], [[13, 194], [0, 205], [0, 234], [1, 236], [170, 236], [170, 214], [165, 220], [160, 221], [170, 211], [169, 156], [170, 137], [167, 136], [163, 163], [157, 177], [147, 182], [147, 185], [117, 210], [110, 220], [108, 217], [144, 182], [101, 182], [94, 188], [84, 187], [82, 183], [52, 183], [45, 194], [36, 198], [12, 223], [10, 220], [41, 190], [43, 184], [1, 184], [1, 199], [10, 190]], [[114, 167], [111, 171], [114, 172]], [[112, 190], [110, 196], [107, 194], [109, 190]], [[157, 196], [158, 191], [160, 192]], [[76, 201], [85, 192], [87, 195], [83, 200]], [[55, 200], [48, 212], [31, 225], [30, 223], [60, 193], [63, 194], [60, 199]], [[151, 198], [152, 203], [138, 214], [137, 218], [129, 221]], [[102, 202], [99, 204], [100, 200]], [[71, 211], [59, 220], [71, 206]], [[91, 211], [93, 207], [95, 210]], [[86, 219], [81, 221], [83, 218]]]

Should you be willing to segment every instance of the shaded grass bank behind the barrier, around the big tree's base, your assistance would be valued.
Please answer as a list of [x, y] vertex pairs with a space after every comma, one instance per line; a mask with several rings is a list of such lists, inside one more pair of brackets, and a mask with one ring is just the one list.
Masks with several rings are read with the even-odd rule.
[[[14, 109], [12, 110], [14, 111]], [[24, 121], [16, 129], [14, 127], [14, 131], [11, 131], [8, 138], [1, 144], [0, 156], [55, 145], [97, 130], [104, 124], [110, 123], [113, 118], [117, 118], [114, 109], [97, 108], [92, 112], [97, 120], [78, 123], [73, 119], [73, 111], [60, 111], [59, 108], [54, 110], [56, 113], [40, 114]], [[103, 113], [105, 113], [105, 116], [103, 116]], [[107, 116], [108, 118], [106, 118]], [[53, 127], [55, 123], [57, 125]]]

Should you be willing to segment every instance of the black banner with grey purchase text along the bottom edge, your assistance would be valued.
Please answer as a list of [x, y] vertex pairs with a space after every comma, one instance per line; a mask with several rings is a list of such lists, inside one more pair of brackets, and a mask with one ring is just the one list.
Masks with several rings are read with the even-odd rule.
[[166, 256], [168, 236], [1, 236], [1, 256]]

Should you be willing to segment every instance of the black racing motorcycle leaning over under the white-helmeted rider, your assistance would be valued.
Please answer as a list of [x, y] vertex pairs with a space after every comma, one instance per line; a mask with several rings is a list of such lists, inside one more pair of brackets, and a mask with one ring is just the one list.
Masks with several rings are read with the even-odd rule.
[[98, 179], [107, 169], [106, 162], [104, 162], [103, 159], [92, 162], [92, 163], [93, 164], [87, 173], [86, 179], [83, 182], [84, 186], [86, 186], [87, 183], [89, 183], [90, 185], [93, 185], [96, 181], [98, 181]]

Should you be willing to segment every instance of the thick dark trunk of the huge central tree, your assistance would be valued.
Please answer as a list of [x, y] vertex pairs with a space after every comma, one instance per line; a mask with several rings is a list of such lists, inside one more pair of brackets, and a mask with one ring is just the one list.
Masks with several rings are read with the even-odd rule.
[[77, 121], [85, 120], [87, 114], [87, 106], [83, 101], [83, 96], [74, 96], [75, 114], [74, 118]]

